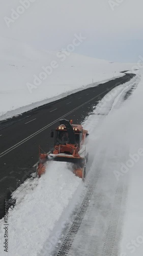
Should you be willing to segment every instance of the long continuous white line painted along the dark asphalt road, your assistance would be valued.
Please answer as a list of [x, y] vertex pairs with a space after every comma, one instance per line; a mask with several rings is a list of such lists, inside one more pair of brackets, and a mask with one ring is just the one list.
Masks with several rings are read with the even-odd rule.
[[[101, 94], [103, 94], [103, 92], [102, 92]], [[99, 94], [98, 96], [100, 96], [101, 94]], [[44, 126], [43, 128], [41, 128], [41, 129], [38, 130], [37, 132], [35, 132], [35, 133], [31, 134], [30, 136], [28, 136], [27, 138], [25, 138], [25, 139], [19, 141], [17, 144], [11, 146], [11, 147], [8, 148], [6, 151], [2, 152], [2, 153], [0, 154], [0, 158], [3, 157], [3, 156], [5, 156], [6, 154], [8, 154], [9, 152], [11, 152], [12, 150], [14, 150], [16, 147], [18, 147], [18, 146], [20, 146], [21, 144], [25, 143], [27, 140], [30, 140], [31, 138], [35, 137], [37, 134], [43, 132], [43, 131], [46, 130], [48, 127], [50, 127], [52, 124], [58, 122], [60, 119], [62, 119], [62, 118], [64, 118], [64, 117], [66, 117], [67, 115], [73, 113], [75, 110], [80, 109], [82, 106], [84, 106], [85, 104], [91, 102], [92, 100], [94, 100], [94, 99], [96, 99], [96, 98], [97, 98], [97, 96], [95, 96], [94, 98], [92, 98], [92, 99], [90, 99], [90, 100], [84, 102], [83, 104], [77, 106], [77, 108], [75, 108], [75, 109], [71, 110], [70, 112], [66, 113], [64, 116], [59, 117], [58, 119], [56, 119], [56, 120], [54, 120], [53, 122], [47, 124], [46, 126]]]

